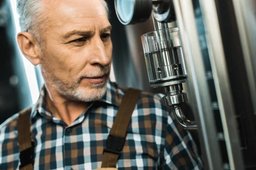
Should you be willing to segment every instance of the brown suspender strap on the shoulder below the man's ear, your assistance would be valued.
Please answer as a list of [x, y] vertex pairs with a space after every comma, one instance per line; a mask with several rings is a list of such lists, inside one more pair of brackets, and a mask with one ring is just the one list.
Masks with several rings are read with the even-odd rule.
[[20, 111], [18, 117], [18, 142], [20, 147], [20, 170], [33, 170], [34, 146], [30, 136], [30, 113], [32, 108]]

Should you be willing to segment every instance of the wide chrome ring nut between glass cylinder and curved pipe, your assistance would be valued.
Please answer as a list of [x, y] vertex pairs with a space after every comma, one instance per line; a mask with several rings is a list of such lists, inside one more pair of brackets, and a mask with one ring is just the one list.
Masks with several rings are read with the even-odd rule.
[[163, 104], [166, 106], [172, 106], [180, 103], [187, 102], [186, 93], [176, 94], [172, 96], [163, 96]]

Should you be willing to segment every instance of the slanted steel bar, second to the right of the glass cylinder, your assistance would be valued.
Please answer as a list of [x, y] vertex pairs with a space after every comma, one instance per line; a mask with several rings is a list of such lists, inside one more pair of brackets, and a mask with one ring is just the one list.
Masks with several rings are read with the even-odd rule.
[[239, 149], [239, 134], [235, 118], [236, 113], [230, 89], [230, 80], [227, 73], [227, 63], [225, 60], [215, 0], [199, 0], [199, 3], [208, 34], [207, 45], [210, 47], [209, 58], [221, 112], [221, 122], [225, 135], [230, 169], [243, 170], [243, 159], [241, 150]]

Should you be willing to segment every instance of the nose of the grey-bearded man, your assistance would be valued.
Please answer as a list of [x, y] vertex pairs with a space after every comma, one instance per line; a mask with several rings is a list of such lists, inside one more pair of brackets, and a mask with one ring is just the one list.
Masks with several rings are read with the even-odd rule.
[[111, 56], [108, 55], [107, 49], [100, 38], [93, 41], [92, 48], [94, 55], [90, 59], [91, 65], [108, 66], [111, 64]]

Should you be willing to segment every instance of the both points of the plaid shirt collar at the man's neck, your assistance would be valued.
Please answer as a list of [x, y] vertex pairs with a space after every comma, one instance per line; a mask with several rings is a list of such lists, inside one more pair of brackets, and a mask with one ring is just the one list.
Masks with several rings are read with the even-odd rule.
[[[32, 118], [35, 118], [37, 113], [40, 113], [42, 116], [52, 117], [52, 114], [49, 111], [47, 111], [47, 108], [46, 108], [46, 93], [47, 93], [47, 90], [44, 85], [43, 88], [41, 89], [38, 101], [35, 103], [35, 105], [32, 108], [32, 114], [31, 114]], [[110, 105], [119, 107], [122, 100], [122, 96], [123, 96], [123, 92], [119, 88], [119, 85], [109, 80], [107, 84], [106, 93], [102, 97], [102, 99], [99, 100], [99, 102], [104, 102], [104, 103], [108, 103]]]

